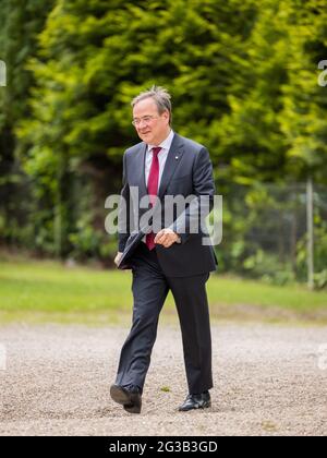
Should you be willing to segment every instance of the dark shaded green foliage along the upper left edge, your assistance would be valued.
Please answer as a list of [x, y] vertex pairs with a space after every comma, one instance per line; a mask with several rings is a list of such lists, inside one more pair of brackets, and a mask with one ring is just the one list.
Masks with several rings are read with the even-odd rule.
[[33, 204], [29, 182], [15, 154], [20, 142], [14, 130], [29, 117], [28, 94], [35, 80], [26, 63], [37, 51], [37, 34], [44, 28], [52, 3], [1, 0], [0, 9], [0, 59], [8, 71], [7, 86], [0, 87], [0, 218], [5, 221], [0, 238], [25, 246], [33, 244], [33, 221], [27, 217]]

